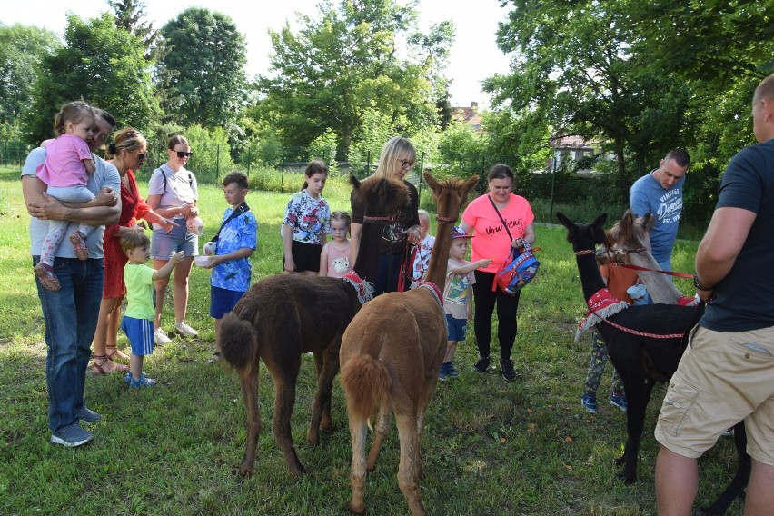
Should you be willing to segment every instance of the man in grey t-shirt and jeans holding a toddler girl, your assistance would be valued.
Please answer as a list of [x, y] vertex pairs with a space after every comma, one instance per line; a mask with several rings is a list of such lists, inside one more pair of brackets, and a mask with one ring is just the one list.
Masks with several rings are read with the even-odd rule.
[[[94, 137], [87, 142], [92, 150], [104, 144], [115, 126], [113, 116], [106, 112], [98, 114]], [[75, 257], [68, 239], [59, 246], [54, 262], [61, 284], [59, 291], [46, 290], [36, 280], [48, 349], [45, 377], [51, 441], [72, 447], [94, 438], [80, 423], [100, 419], [98, 413], [84, 404], [84, 384], [104, 284], [102, 226], [118, 221], [121, 179], [113, 164], [95, 157], [96, 171], [89, 175], [86, 185], [94, 193], [94, 200], [83, 204], [60, 203], [45, 195], [46, 185], [35, 175], [37, 165], [44, 160], [45, 149], [37, 148], [27, 156], [22, 170], [22, 193], [27, 212], [32, 215], [29, 231], [33, 264], [40, 260], [40, 249], [48, 233], [45, 221], [69, 220], [75, 227], [78, 223], [100, 226], [86, 241], [89, 258], [85, 261]]]

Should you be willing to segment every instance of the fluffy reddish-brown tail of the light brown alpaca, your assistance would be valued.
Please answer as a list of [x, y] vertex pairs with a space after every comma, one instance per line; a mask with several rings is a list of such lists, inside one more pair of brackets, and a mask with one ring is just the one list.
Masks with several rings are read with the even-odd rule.
[[358, 355], [342, 369], [342, 385], [347, 397], [347, 412], [369, 419], [387, 400], [392, 378], [382, 362], [371, 355]]

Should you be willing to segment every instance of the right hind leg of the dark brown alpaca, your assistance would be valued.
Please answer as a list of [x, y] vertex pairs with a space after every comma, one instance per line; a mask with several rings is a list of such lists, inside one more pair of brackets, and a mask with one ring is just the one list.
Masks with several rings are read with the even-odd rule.
[[295, 403], [295, 382], [298, 380], [298, 370], [301, 357], [296, 357], [296, 362], [283, 364], [283, 371], [273, 374], [274, 378], [274, 419], [272, 430], [277, 445], [283, 451], [288, 473], [293, 477], [303, 475], [303, 466], [298, 460], [293, 448], [293, 436], [291, 435], [290, 421]]

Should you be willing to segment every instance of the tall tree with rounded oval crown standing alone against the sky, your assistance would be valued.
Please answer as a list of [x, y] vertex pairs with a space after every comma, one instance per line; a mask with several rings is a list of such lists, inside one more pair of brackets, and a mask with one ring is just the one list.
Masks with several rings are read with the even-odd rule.
[[168, 90], [164, 109], [182, 114], [185, 125], [225, 127], [233, 134], [246, 98], [244, 36], [230, 17], [191, 7], [161, 29], [164, 55], [159, 87]]

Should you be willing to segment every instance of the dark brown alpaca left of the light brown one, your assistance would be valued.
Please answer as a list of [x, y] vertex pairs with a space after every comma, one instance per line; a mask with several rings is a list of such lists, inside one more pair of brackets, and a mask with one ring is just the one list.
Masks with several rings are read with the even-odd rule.
[[[366, 223], [362, 228], [362, 250], [354, 271], [363, 279], [376, 276], [379, 241], [385, 218], [409, 201], [402, 182], [367, 179], [359, 184], [352, 178], [352, 197], [365, 200]], [[369, 221], [373, 217], [376, 221]], [[365, 297], [369, 297], [366, 293]], [[332, 432], [331, 391], [339, 372], [342, 334], [362, 306], [352, 283], [332, 277], [276, 275], [255, 283], [223, 317], [219, 332], [223, 359], [237, 372], [247, 412], [247, 446], [239, 471], [253, 472], [255, 448], [261, 432], [258, 407], [258, 363], [263, 360], [274, 381], [272, 430], [283, 451], [288, 472], [305, 472], [293, 448], [290, 420], [295, 402], [295, 384], [301, 356], [313, 352], [317, 371], [317, 392], [306, 440], [316, 445], [319, 431]]]

